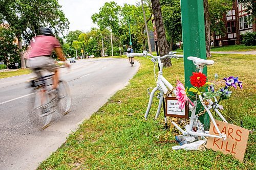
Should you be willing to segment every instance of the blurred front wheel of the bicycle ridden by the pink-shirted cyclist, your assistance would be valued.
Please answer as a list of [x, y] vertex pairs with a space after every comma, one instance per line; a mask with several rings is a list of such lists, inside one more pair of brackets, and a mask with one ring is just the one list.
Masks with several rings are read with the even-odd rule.
[[70, 111], [71, 107], [71, 95], [69, 86], [66, 81], [60, 80], [58, 85], [58, 112], [61, 115], [65, 115]]

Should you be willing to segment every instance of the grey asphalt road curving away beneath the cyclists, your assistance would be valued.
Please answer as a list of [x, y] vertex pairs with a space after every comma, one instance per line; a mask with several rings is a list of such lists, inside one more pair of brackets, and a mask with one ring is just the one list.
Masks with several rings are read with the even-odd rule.
[[0, 79], [0, 169], [36, 169], [56, 151], [78, 125], [96, 112], [136, 74], [127, 59], [86, 59], [61, 68], [72, 94], [71, 112], [45, 130], [33, 127], [29, 118], [33, 74]]

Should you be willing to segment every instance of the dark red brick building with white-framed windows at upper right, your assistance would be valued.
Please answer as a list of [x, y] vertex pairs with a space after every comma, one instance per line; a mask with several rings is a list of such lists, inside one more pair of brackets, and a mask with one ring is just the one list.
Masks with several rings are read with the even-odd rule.
[[[216, 35], [215, 44], [217, 46], [241, 44], [243, 34], [256, 31], [256, 23], [250, 22], [251, 17], [240, 0], [235, 0], [233, 8], [223, 15], [226, 31], [223, 36]], [[211, 41], [214, 41], [214, 36], [211, 36]]]

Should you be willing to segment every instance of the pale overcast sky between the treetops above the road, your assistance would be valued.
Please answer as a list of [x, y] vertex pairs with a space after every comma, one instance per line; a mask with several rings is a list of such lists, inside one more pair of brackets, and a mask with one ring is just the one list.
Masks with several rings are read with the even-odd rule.
[[65, 16], [69, 19], [69, 31], [80, 30], [83, 32], [90, 31], [92, 27], [97, 27], [92, 22], [91, 16], [99, 12], [99, 8], [105, 2], [115, 1], [118, 5], [124, 3], [136, 5], [139, 0], [59, 0]]

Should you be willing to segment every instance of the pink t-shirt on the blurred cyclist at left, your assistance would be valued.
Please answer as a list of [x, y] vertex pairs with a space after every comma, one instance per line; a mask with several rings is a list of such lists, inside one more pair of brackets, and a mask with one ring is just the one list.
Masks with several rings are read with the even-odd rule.
[[45, 35], [36, 36], [35, 42], [31, 41], [29, 58], [50, 56], [54, 47], [60, 47], [59, 41], [55, 37]]

